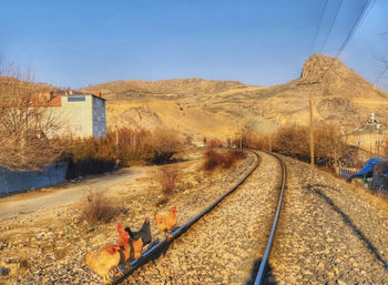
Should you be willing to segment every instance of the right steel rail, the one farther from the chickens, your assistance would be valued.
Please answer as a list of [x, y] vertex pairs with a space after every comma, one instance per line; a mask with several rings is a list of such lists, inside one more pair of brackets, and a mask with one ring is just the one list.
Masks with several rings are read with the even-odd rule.
[[284, 196], [284, 189], [285, 189], [285, 184], [286, 184], [286, 167], [285, 167], [283, 161], [277, 155], [275, 155], [273, 153], [269, 153], [269, 152], [266, 152], [266, 153], [268, 153], [268, 154], [273, 155], [274, 157], [276, 157], [279, 161], [280, 165], [282, 165], [282, 172], [283, 172], [282, 189], [280, 189], [282, 192], [280, 192], [280, 196], [279, 196], [279, 202], [277, 203], [277, 210], [276, 210], [275, 220], [274, 220], [274, 223], [273, 223], [273, 226], [272, 226], [272, 230], [270, 230], [268, 242], [267, 242], [267, 245], [265, 247], [265, 252], [264, 252], [264, 255], [263, 255], [263, 258], [262, 258], [262, 262], [261, 262], [261, 266], [258, 268], [258, 273], [257, 273], [257, 276], [256, 276], [254, 285], [263, 284], [263, 281], [264, 281], [264, 277], [265, 277], [265, 269], [266, 269], [267, 262], [268, 262], [268, 256], [269, 256], [269, 253], [270, 253], [270, 250], [272, 250], [272, 243], [274, 241], [277, 222], [278, 222], [279, 215], [280, 215], [280, 210], [282, 210], [282, 204], [283, 204], [283, 196]]

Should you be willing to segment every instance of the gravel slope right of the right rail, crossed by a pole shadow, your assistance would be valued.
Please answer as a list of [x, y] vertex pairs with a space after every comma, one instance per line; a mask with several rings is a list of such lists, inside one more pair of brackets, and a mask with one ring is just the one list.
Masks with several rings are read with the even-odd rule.
[[284, 160], [287, 190], [269, 256], [276, 284], [388, 284], [388, 222], [350, 185]]

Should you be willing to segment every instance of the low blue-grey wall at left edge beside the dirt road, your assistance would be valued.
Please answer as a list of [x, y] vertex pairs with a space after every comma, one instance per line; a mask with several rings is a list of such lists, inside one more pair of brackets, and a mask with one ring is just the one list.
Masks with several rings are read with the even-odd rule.
[[42, 171], [14, 172], [0, 167], [0, 195], [57, 185], [65, 180], [68, 162], [50, 165]]

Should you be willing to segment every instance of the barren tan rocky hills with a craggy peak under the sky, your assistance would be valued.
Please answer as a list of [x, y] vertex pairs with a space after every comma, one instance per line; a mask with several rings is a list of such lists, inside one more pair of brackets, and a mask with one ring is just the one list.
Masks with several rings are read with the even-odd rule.
[[203, 79], [114, 81], [83, 89], [108, 99], [108, 125], [167, 126], [192, 138], [234, 135], [242, 126], [265, 133], [284, 123], [308, 122], [312, 92], [315, 120], [361, 124], [375, 112], [388, 122], [388, 94], [339, 60], [314, 54], [300, 78], [275, 86]]

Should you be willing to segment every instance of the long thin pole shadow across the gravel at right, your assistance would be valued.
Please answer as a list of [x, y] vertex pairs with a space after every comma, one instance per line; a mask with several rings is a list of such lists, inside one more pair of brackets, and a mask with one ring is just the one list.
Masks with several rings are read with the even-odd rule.
[[377, 248], [372, 245], [372, 243], [365, 236], [365, 234], [351, 222], [350, 217], [345, 214], [334, 202], [329, 199], [325, 193], [320, 191], [321, 187], [327, 187], [320, 184], [308, 184], [306, 186], [307, 190], [313, 191], [317, 195], [319, 195], [334, 211], [336, 211], [344, 223], [351, 228], [355, 235], [365, 244], [368, 251], [382, 264], [384, 268], [388, 272], [388, 262], [382, 258], [382, 256], [378, 253]]

